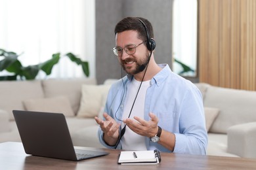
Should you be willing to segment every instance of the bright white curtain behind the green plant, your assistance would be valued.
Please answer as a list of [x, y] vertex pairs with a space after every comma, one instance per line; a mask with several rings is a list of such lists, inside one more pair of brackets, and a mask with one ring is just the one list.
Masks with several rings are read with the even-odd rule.
[[[60, 52], [89, 61], [95, 77], [95, 0], [0, 0], [0, 48], [33, 65]], [[81, 78], [81, 66], [61, 58], [49, 78]], [[44, 73], [37, 78], [45, 78]]]

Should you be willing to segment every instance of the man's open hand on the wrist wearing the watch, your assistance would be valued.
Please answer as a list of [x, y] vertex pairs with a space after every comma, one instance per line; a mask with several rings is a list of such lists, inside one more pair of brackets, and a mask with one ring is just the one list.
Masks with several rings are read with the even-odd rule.
[[158, 117], [152, 112], [150, 112], [149, 116], [151, 118], [149, 121], [134, 116], [134, 119], [138, 122], [130, 118], [123, 120], [123, 122], [135, 133], [145, 137], [152, 137], [158, 133]]

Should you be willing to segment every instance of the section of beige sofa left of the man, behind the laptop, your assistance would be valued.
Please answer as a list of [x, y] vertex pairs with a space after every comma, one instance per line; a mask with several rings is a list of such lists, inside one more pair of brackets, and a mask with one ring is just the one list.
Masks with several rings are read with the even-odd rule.
[[[21, 141], [12, 115], [15, 109], [62, 112], [75, 146], [103, 147], [98, 141], [94, 116], [102, 108], [101, 95], [108, 92], [105, 87], [96, 85], [94, 78], [0, 81], [0, 143]], [[87, 108], [80, 107], [81, 99], [85, 101], [83, 107], [86, 100], [89, 102]]]

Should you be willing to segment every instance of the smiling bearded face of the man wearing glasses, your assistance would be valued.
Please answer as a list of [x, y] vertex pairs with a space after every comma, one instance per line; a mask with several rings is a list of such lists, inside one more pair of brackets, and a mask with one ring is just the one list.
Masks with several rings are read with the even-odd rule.
[[[138, 39], [137, 31], [123, 31], [116, 34], [116, 46], [123, 48], [121, 56], [118, 56], [119, 62], [126, 73], [130, 75], [136, 75], [141, 72], [141, 65], [148, 62], [149, 54], [146, 46], [142, 43], [141, 39]], [[140, 44], [139, 46], [137, 46]], [[137, 46], [134, 54], [127, 54], [124, 48]]]

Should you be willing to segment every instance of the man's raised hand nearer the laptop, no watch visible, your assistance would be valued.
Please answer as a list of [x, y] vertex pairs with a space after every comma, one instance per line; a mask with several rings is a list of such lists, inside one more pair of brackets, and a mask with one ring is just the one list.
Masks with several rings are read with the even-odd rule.
[[104, 141], [110, 146], [114, 146], [119, 137], [120, 124], [117, 124], [117, 122], [106, 112], [103, 113], [103, 116], [106, 120], [101, 120], [95, 116], [95, 121], [100, 125], [101, 130], [104, 132]]

